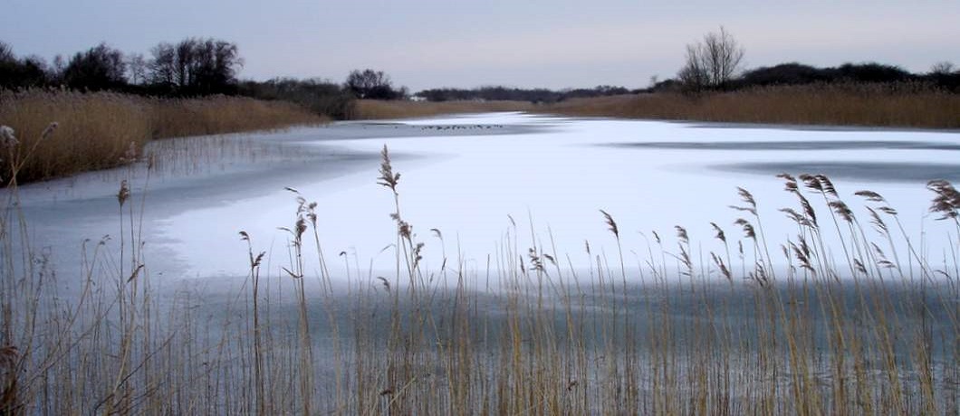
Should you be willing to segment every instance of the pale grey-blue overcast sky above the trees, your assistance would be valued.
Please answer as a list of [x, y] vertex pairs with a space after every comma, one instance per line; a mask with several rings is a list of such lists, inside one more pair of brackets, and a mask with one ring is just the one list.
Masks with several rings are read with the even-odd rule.
[[748, 67], [878, 61], [960, 64], [960, 1], [0, 0], [0, 40], [52, 59], [99, 42], [149, 56], [159, 41], [235, 42], [240, 77], [385, 71], [424, 88], [646, 86], [720, 25]]

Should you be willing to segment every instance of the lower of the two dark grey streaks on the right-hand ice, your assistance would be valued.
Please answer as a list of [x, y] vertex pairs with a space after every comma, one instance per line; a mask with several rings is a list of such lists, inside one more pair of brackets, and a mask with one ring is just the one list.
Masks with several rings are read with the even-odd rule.
[[761, 173], [824, 173], [831, 178], [864, 182], [926, 183], [933, 179], [960, 181], [960, 165], [900, 162], [759, 162], [713, 165], [719, 171]]

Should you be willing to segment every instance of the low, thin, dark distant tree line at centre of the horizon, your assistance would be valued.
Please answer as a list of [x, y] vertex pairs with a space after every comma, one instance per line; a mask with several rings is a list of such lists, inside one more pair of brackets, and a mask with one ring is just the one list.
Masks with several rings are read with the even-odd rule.
[[603, 97], [630, 94], [622, 86], [599, 85], [593, 88], [564, 89], [554, 91], [545, 88], [511, 88], [505, 86], [484, 86], [473, 89], [434, 88], [416, 94], [426, 101], [524, 101], [531, 103], [558, 103], [571, 98]]

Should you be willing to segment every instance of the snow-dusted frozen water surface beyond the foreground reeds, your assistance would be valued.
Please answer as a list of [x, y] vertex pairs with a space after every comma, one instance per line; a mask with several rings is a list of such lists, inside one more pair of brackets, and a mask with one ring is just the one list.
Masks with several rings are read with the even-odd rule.
[[[932, 262], [942, 264], [956, 238], [948, 235], [955, 228], [928, 213], [933, 194], [924, 187], [930, 179], [960, 180], [956, 131], [519, 113], [352, 122], [158, 141], [149, 177], [144, 161], [132, 169], [26, 186], [20, 199], [33, 243], [60, 276], [80, 272], [84, 241], [109, 236], [108, 247], [119, 244], [121, 222], [129, 243], [132, 206], [132, 238], [142, 240], [155, 279], [228, 278], [249, 269], [241, 230], [252, 236], [254, 250], [268, 252], [270, 273], [289, 265], [289, 234], [278, 230], [293, 228], [297, 218], [295, 195], [284, 189], [289, 187], [317, 202], [324, 253], [333, 274], [346, 278], [344, 259], [362, 270], [394, 265], [390, 250], [383, 251], [396, 242], [389, 217], [393, 195], [376, 184], [384, 145], [401, 173], [401, 212], [425, 243], [427, 269], [440, 268], [444, 256], [451, 263], [462, 257], [466, 268], [482, 276], [515, 238], [521, 253], [536, 243], [567, 266], [587, 266], [585, 242], [593, 256], [616, 253], [601, 209], [618, 224], [628, 265], [642, 263], [654, 231], [668, 250], [675, 247], [675, 225], [686, 228], [694, 257], [704, 259], [722, 249], [711, 221], [732, 240], [743, 235], [733, 220], [748, 214], [729, 208], [742, 205], [737, 187], [756, 196], [766, 238], [779, 251], [797, 227], [778, 210], [798, 208], [775, 177], [781, 172], [828, 174], [868, 233], [873, 231], [864, 201], [853, 193], [869, 189], [885, 196], [912, 239], [921, 241], [924, 231], [924, 252]], [[124, 179], [132, 184], [132, 205], [121, 217], [116, 193]], [[828, 218], [822, 197], [807, 196]]]

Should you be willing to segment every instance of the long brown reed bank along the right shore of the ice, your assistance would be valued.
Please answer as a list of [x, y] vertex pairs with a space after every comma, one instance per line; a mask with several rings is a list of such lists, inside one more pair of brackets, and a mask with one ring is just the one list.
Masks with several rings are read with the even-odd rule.
[[656, 93], [574, 99], [536, 110], [704, 122], [960, 128], [960, 95], [911, 85], [778, 86], [697, 97]]

